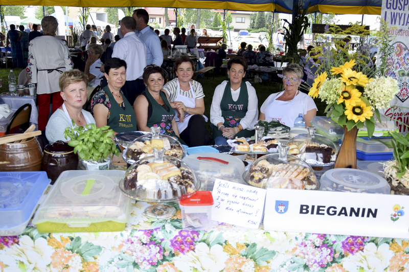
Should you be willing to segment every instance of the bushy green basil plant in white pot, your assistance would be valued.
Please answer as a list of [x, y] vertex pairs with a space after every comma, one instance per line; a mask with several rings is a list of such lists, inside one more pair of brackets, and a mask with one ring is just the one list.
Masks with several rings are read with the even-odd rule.
[[73, 126], [65, 128], [65, 139], [70, 138], [69, 146], [78, 153], [78, 170], [109, 170], [113, 168], [111, 154], [119, 155], [115, 142], [112, 140], [113, 130], [109, 126], [98, 128], [95, 124], [84, 127]]

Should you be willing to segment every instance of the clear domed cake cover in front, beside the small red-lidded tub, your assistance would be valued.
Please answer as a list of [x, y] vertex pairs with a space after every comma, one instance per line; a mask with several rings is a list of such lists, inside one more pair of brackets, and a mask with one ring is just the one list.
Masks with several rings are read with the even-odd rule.
[[120, 184], [123, 193], [148, 202], [169, 202], [185, 199], [200, 188], [200, 181], [190, 167], [164, 148], [153, 148], [154, 156], [132, 164]]

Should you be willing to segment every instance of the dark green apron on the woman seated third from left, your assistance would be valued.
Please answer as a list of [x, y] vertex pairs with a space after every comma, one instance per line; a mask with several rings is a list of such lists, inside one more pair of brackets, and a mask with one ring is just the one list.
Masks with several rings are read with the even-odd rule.
[[147, 127], [161, 127], [161, 134], [167, 134], [173, 137], [176, 137], [175, 132], [172, 128], [172, 120], [175, 116], [175, 112], [170, 106], [166, 94], [164, 92], [159, 92], [163, 101], [168, 106], [169, 111], [164, 109], [156, 100], [145, 90], [146, 98], [149, 99], [150, 104], [152, 105], [152, 116], [148, 119], [146, 126]]

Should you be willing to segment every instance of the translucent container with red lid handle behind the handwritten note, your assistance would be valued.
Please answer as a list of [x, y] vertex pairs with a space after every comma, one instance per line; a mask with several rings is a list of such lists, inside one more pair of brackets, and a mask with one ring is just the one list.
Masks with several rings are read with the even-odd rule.
[[237, 157], [223, 153], [196, 153], [183, 161], [196, 173], [201, 191], [212, 191], [216, 178], [244, 183], [244, 163]]

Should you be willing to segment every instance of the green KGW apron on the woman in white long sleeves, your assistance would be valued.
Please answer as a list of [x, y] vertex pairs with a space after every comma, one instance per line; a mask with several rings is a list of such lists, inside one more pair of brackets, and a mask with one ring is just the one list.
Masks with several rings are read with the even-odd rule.
[[[247, 85], [244, 81], [240, 85], [240, 95], [237, 101], [233, 101], [230, 81], [224, 88], [223, 97], [220, 101], [221, 116], [224, 118], [224, 127], [236, 127], [240, 124], [240, 120], [246, 116], [248, 106], [248, 92]], [[213, 126], [213, 139], [216, 137], [223, 137], [223, 133]], [[254, 130], [243, 129], [238, 132], [235, 137], [252, 137]]]

